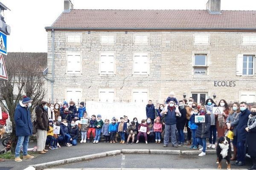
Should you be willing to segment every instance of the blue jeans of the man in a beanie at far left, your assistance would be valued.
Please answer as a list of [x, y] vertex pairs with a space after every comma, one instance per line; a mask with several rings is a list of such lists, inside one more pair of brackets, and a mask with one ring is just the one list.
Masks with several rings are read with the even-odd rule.
[[18, 142], [15, 148], [15, 157], [20, 157], [20, 149], [23, 147], [23, 156], [28, 154], [29, 136], [18, 136]]

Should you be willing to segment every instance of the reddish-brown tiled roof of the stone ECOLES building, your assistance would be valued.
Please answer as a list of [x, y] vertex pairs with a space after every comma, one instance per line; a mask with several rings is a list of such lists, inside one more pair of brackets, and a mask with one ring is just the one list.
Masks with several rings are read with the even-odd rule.
[[256, 11], [88, 10], [64, 11], [52, 26], [59, 30], [256, 30]]

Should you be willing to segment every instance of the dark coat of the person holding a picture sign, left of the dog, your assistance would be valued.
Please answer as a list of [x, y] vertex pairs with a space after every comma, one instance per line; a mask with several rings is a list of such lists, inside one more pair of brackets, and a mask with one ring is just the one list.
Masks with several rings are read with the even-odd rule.
[[[200, 115], [200, 114], [198, 114]], [[210, 127], [211, 127], [211, 116], [210, 113], [205, 115], [204, 123], [196, 123], [198, 129], [196, 130], [195, 137], [197, 138], [209, 138], [210, 136]]]

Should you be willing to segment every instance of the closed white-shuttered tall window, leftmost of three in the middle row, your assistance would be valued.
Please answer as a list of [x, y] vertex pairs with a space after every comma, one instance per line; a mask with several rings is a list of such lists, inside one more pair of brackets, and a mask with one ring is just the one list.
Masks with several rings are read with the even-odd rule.
[[67, 53], [67, 73], [79, 74], [81, 73], [81, 54]]

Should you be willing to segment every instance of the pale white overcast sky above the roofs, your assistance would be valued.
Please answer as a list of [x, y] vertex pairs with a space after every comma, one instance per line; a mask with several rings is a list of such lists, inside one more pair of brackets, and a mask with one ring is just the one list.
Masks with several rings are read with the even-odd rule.
[[[75, 9], [206, 9], [208, 0], [72, 0]], [[47, 52], [45, 26], [61, 14], [64, 0], [0, 0], [11, 26], [8, 52]], [[256, 10], [256, 0], [221, 0], [221, 10]]]

